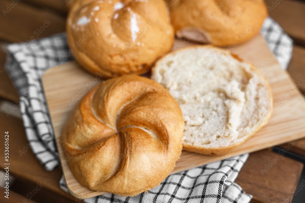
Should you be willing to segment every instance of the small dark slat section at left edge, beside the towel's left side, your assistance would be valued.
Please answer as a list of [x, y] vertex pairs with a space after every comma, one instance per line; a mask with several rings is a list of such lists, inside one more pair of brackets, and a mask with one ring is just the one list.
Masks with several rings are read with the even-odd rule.
[[13, 102], [19, 101], [17, 91], [4, 70], [5, 60], [6, 53], [0, 50], [0, 97], [11, 100]]

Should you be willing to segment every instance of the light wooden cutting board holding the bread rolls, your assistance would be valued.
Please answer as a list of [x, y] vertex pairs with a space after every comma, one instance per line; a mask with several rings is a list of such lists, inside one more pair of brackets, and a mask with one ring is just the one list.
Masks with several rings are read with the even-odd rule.
[[[189, 45], [192, 45], [192, 43], [186, 40], [176, 40], [174, 49]], [[282, 70], [275, 60], [263, 37], [258, 34], [244, 44], [225, 48], [228, 53], [238, 54], [240, 58], [254, 63], [267, 78], [274, 100], [272, 117], [264, 128], [226, 155], [206, 156], [182, 151], [181, 157], [176, 162], [176, 167], [171, 174], [305, 137], [304, 98], [296, 89], [288, 73]], [[67, 186], [70, 193], [80, 199], [95, 197], [102, 192], [89, 190], [81, 186], [74, 178], [69, 166], [64, 161], [68, 158], [63, 153], [60, 134], [63, 124], [75, 103], [99, 82], [101, 82], [99, 77], [96, 78], [84, 71], [76, 62], [50, 68], [42, 77]], [[300, 80], [301, 83], [302, 80]]]

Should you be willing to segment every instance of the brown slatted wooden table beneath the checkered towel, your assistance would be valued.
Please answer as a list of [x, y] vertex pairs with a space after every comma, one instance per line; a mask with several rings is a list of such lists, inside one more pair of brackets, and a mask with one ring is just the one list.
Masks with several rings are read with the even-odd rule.
[[[30, 41], [33, 37], [38, 39], [64, 32], [67, 13], [65, 2], [69, 5], [70, 1], [23, 0], [17, 2], [17, 5], [8, 13], [0, 15], [0, 25], [2, 25], [0, 48], [3, 49], [8, 43]], [[282, 0], [278, 4], [273, 2], [274, 0], [266, 0], [267, 5], [270, 6], [269, 15], [295, 42], [288, 71], [297, 83], [305, 77], [305, 2], [292, 0]], [[7, 5], [11, 3], [9, 0], [1, 0], [1, 11], [6, 11]], [[39, 28], [45, 19], [52, 23], [39, 36], [36, 36], [34, 30]], [[4, 71], [5, 58], [5, 51], [0, 51], [0, 106], [7, 102], [11, 102], [8, 105], [13, 105], [19, 100], [18, 94]], [[300, 86], [300, 90], [305, 93], [305, 85]], [[18, 114], [16, 117], [7, 117], [3, 110], [2, 112], [0, 110], [0, 129], [8, 130], [11, 135], [10, 175], [16, 178], [10, 187], [12, 198], [8, 201], [1, 195], [0, 202], [81, 202], [60, 189], [59, 179], [62, 171], [59, 168], [48, 172], [38, 162], [29, 148], [23, 123]], [[305, 139], [279, 147], [305, 156]], [[20, 151], [25, 153], [21, 153], [21, 156]], [[0, 145], [0, 154], [3, 153], [4, 146]], [[278, 159], [276, 163], [268, 167], [275, 158]], [[4, 166], [0, 168], [4, 170]], [[253, 195], [251, 202], [291, 202], [302, 170], [303, 163], [282, 156], [282, 153], [266, 149], [250, 154], [235, 182], [246, 193]], [[29, 192], [33, 191], [38, 184], [43, 185], [41, 190], [29, 200]], [[0, 188], [1, 194], [3, 191], [3, 188]]]

